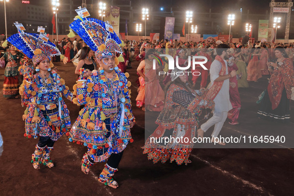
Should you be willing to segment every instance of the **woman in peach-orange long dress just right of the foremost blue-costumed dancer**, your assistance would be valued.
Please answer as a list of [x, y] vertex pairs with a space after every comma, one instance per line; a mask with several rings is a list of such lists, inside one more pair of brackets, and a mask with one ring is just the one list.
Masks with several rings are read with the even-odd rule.
[[[137, 68], [140, 75], [140, 91], [136, 100], [137, 107], [143, 107], [143, 110], [146, 106], [148, 110], [161, 111], [164, 105], [164, 92], [159, 84], [156, 70], [153, 69], [154, 52], [154, 50], [148, 50], [145, 59]], [[156, 69], [158, 68], [156, 62]]]

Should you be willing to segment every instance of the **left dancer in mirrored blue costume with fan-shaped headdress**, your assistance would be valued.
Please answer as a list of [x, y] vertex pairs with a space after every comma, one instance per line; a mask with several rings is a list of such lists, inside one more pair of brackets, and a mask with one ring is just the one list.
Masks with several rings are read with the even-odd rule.
[[31, 73], [29, 61], [23, 63], [20, 72], [24, 81], [19, 93], [22, 96], [22, 105], [26, 106], [22, 116], [25, 121], [24, 136], [40, 136], [31, 161], [34, 169], [40, 169], [40, 164], [49, 168], [54, 166], [50, 160], [54, 142], [71, 127], [69, 110], [62, 96], [72, 100], [73, 95], [65, 86], [65, 81], [56, 72], [51, 72], [51, 56], [60, 55], [59, 50], [51, 42], [43, 42], [35, 36], [17, 33], [7, 40], [32, 58], [37, 72]]

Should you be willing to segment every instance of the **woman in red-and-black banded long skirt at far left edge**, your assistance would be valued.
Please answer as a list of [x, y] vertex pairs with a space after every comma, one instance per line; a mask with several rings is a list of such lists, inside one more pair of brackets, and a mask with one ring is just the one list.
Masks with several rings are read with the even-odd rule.
[[20, 52], [15, 51], [13, 45], [10, 45], [9, 52], [5, 52], [0, 58], [0, 60], [5, 60], [7, 62], [3, 82], [4, 98], [19, 98], [18, 67], [20, 58], [23, 58], [23, 55]]

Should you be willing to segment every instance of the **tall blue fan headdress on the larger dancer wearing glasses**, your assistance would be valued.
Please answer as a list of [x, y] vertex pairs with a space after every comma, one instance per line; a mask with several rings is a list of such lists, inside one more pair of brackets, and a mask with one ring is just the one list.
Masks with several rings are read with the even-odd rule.
[[95, 51], [97, 60], [104, 57], [115, 56], [116, 52], [120, 53], [118, 61], [123, 62], [122, 51], [119, 46], [122, 42], [113, 31], [112, 26], [106, 21], [103, 22], [96, 18], [88, 18], [90, 16], [86, 8], [76, 9], [79, 16], [75, 17], [75, 21], [70, 24], [73, 29], [86, 44]]

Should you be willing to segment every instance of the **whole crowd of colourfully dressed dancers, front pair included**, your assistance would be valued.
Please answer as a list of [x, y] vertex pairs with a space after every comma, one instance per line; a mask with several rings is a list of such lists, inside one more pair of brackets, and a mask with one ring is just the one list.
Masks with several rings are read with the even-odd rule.
[[[92, 25], [87, 26], [89, 29], [84, 29], [74, 21], [71, 27], [79, 29], [76, 32], [83, 39], [63, 38], [61, 44], [56, 40], [44, 43], [33, 35], [23, 34], [28, 40], [35, 41], [31, 41], [29, 51], [23, 47], [27, 43], [22, 46], [15, 34], [8, 39], [10, 45], [0, 58], [0, 64], [5, 67], [3, 96], [21, 96], [22, 104], [26, 106], [23, 114], [25, 136], [40, 136], [31, 160], [35, 169], [40, 169], [41, 163], [49, 168], [54, 166], [50, 159], [53, 145], [67, 134], [70, 141], [87, 146], [82, 171], [88, 174], [95, 163], [107, 160], [98, 181], [116, 189], [118, 183], [112, 177], [124, 149], [133, 141], [130, 128], [135, 123], [128, 77], [137, 79], [136, 106], [144, 111], [160, 112], [155, 122], [159, 126], [150, 137], [189, 138], [189, 141], [168, 144], [151, 143], [147, 139], [143, 153], [154, 163], [168, 160], [179, 165], [191, 163], [191, 139], [202, 138], [214, 126], [213, 141], [227, 118], [230, 124], [239, 124], [241, 99], [238, 88], [249, 88], [248, 83], [258, 82], [262, 76], [268, 77], [269, 85], [259, 97], [258, 116], [290, 121], [290, 99], [294, 95], [293, 44], [258, 41], [242, 45], [241, 42], [167, 39], [120, 41], [115, 34], [107, 34], [104, 28], [97, 27], [95, 20], [91, 22]], [[89, 39], [87, 30], [100, 35]], [[200, 89], [196, 90], [199, 75], [188, 75], [179, 67], [169, 70], [166, 58], [161, 62], [154, 61], [160, 54], [177, 59], [179, 67], [189, 64], [189, 56], [204, 56], [207, 69], [196, 66], [187, 70], [200, 73]], [[60, 61], [62, 55], [76, 66], [73, 75], [78, 81], [74, 92], [69, 91], [52, 68], [51, 61]], [[140, 63], [137, 75], [130, 76], [126, 71], [132, 68], [132, 61]], [[158, 75], [159, 72], [165, 74]], [[81, 106], [73, 125], [62, 97]], [[203, 108], [212, 110], [213, 116], [200, 124], [198, 118]]]

